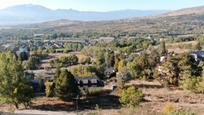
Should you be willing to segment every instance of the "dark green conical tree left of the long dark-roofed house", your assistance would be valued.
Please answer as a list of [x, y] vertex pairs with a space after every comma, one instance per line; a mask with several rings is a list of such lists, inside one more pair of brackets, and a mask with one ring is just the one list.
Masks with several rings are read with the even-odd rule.
[[[58, 73], [59, 74], [59, 73]], [[55, 80], [55, 94], [63, 100], [75, 97], [79, 89], [71, 72], [62, 70]]]

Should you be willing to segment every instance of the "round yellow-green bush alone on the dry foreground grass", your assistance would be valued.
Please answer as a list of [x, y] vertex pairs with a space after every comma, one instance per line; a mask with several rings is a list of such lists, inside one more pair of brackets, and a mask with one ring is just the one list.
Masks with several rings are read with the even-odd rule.
[[127, 107], [136, 107], [143, 100], [144, 94], [135, 86], [122, 90], [120, 94], [120, 103]]

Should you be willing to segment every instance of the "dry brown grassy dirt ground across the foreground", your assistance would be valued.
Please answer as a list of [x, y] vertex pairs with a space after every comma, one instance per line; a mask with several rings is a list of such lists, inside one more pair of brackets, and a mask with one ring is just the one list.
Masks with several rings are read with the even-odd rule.
[[[81, 99], [78, 106], [57, 98], [40, 97], [33, 100], [30, 110], [18, 110], [16, 114], [41, 115], [161, 115], [164, 106], [171, 102], [177, 109], [190, 110], [196, 115], [204, 115], [204, 95], [194, 94], [179, 88], [163, 88], [159, 82], [130, 81], [126, 85], [136, 85], [145, 94], [145, 100], [138, 108], [127, 109], [120, 105], [114, 95], [98, 95]], [[1, 104], [0, 110], [12, 111], [9, 105]], [[76, 111], [78, 110], [78, 111]]]

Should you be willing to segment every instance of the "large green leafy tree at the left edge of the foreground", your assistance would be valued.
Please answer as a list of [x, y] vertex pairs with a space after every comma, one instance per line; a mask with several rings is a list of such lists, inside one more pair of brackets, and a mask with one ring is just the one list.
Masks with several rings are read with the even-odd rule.
[[21, 63], [12, 53], [1, 53], [0, 66], [0, 97], [13, 103], [16, 108], [21, 103], [27, 107], [34, 95]]

